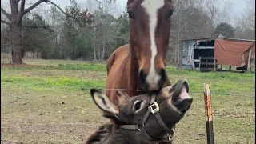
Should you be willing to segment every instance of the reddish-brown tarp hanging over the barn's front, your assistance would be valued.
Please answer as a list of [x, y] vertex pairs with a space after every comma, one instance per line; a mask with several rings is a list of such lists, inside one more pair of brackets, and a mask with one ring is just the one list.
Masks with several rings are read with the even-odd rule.
[[241, 66], [242, 55], [244, 55], [247, 66], [250, 49], [252, 57], [255, 57], [255, 42], [216, 38], [214, 42], [214, 57], [218, 64]]

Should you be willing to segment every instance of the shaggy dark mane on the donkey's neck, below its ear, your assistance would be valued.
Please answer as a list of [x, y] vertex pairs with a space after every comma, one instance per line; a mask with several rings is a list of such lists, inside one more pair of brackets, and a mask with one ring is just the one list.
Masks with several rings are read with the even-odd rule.
[[108, 135], [111, 134], [112, 127], [114, 124], [112, 122], [108, 122], [98, 128], [94, 134], [91, 134], [89, 138], [86, 140], [86, 144], [96, 144], [101, 142], [103, 138], [107, 138]]

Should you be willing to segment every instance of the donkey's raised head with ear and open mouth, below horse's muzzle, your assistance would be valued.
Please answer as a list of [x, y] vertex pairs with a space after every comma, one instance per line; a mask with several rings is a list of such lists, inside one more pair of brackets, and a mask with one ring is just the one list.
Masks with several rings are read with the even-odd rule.
[[[171, 130], [190, 109], [192, 98], [190, 98], [188, 92], [188, 83], [185, 80], [180, 80], [173, 86], [165, 87], [156, 94], [155, 102], [158, 105], [158, 114], [162, 118], [163, 125], [168, 129]], [[144, 136], [139, 137], [141, 139], [138, 141], [146, 142], [150, 141], [150, 138], [159, 139], [166, 134], [166, 130], [162, 128], [157, 118], [154, 118], [154, 114], [148, 115], [145, 121], [145, 115], [151, 101], [148, 94], [129, 97], [118, 91], [119, 106], [114, 106], [109, 98], [99, 90], [92, 89], [90, 94], [95, 104], [102, 110], [103, 116], [110, 118], [115, 126], [124, 129], [122, 131], [129, 133], [131, 137], [141, 135], [142, 132], [139, 130], [144, 129], [143, 131], [146, 132], [148, 137], [142, 134]], [[142, 121], [144, 122], [142, 123]], [[126, 130], [124, 128], [125, 126], [138, 126], [138, 124], [142, 126], [138, 127], [138, 130]]]

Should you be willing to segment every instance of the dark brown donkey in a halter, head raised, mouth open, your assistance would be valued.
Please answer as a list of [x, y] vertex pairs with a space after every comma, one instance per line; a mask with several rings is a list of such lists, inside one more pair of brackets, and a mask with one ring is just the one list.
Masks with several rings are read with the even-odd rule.
[[174, 125], [190, 109], [192, 98], [188, 91], [184, 80], [153, 95], [155, 101], [149, 94], [129, 97], [118, 91], [119, 105], [116, 106], [101, 91], [90, 90], [103, 116], [112, 121], [90, 135], [86, 144], [155, 144], [165, 136], [170, 140]]

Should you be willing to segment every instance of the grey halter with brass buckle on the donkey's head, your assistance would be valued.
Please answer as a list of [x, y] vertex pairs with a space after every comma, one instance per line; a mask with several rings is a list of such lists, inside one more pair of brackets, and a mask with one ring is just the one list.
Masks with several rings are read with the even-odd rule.
[[[154, 117], [157, 119], [158, 124], [162, 127], [163, 130], [166, 131], [166, 136], [167, 138], [162, 138], [162, 139], [154, 139], [151, 138], [149, 134], [146, 133], [145, 130], [145, 123], [147, 119], [150, 117], [150, 114], [154, 114]], [[166, 124], [162, 121], [162, 118], [159, 114], [159, 106], [158, 102], [155, 102], [155, 94], [151, 96], [150, 100], [150, 106], [148, 106], [148, 110], [146, 110], [146, 114], [144, 115], [142, 119], [142, 123], [138, 122], [137, 125], [122, 125], [120, 126], [124, 130], [138, 130], [142, 131], [143, 134], [146, 135], [147, 138], [149, 138], [151, 141], [159, 141], [159, 140], [166, 140], [170, 142], [173, 139], [174, 135], [174, 128], [171, 130], [166, 126]]]

